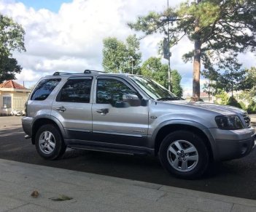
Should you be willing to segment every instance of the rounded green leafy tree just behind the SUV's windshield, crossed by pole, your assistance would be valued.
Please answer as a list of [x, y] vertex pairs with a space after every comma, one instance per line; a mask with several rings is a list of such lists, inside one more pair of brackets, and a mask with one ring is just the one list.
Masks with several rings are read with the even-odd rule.
[[[152, 78], [168, 89], [168, 65], [162, 64], [160, 58], [150, 57], [141, 65], [141, 75]], [[182, 76], [177, 70], [171, 70], [172, 91], [177, 97], [182, 97], [183, 91], [180, 81]]]

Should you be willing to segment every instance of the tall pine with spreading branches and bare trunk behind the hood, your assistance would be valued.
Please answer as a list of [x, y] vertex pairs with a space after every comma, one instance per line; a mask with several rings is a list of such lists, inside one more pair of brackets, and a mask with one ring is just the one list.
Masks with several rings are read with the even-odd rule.
[[[128, 23], [145, 35], [164, 33], [170, 36], [170, 46], [184, 36], [194, 42], [193, 52], [187, 52], [184, 60], [193, 58], [193, 97], [200, 98], [201, 62], [214, 69], [212, 54], [254, 51], [256, 46], [255, 0], [193, 0], [157, 13], [139, 17], [136, 23]], [[171, 28], [168, 30], [168, 23]]]

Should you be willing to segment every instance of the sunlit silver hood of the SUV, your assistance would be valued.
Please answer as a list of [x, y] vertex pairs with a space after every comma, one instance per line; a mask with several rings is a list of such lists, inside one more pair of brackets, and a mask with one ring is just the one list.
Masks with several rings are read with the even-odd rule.
[[[198, 108], [202, 110], [209, 110], [214, 113], [219, 113], [220, 115], [233, 115], [233, 114], [244, 114], [244, 110], [238, 107], [228, 106], [228, 105], [216, 105], [206, 102], [187, 102], [185, 100], [177, 101], [160, 101], [161, 103], [172, 104], [172, 105], [182, 105], [187, 107]], [[192, 109], [192, 108], [191, 108]]]

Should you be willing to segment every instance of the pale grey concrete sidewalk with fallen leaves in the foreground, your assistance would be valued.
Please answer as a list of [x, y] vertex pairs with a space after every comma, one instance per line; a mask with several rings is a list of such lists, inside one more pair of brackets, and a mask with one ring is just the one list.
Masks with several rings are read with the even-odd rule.
[[0, 159], [0, 211], [244, 212], [256, 201]]

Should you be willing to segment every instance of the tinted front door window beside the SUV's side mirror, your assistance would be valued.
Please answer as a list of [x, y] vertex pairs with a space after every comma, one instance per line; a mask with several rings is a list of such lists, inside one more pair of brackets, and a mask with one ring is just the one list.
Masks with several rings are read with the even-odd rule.
[[123, 94], [136, 94], [125, 83], [115, 79], [99, 79], [97, 83], [97, 98], [99, 104], [116, 104], [123, 102]]

